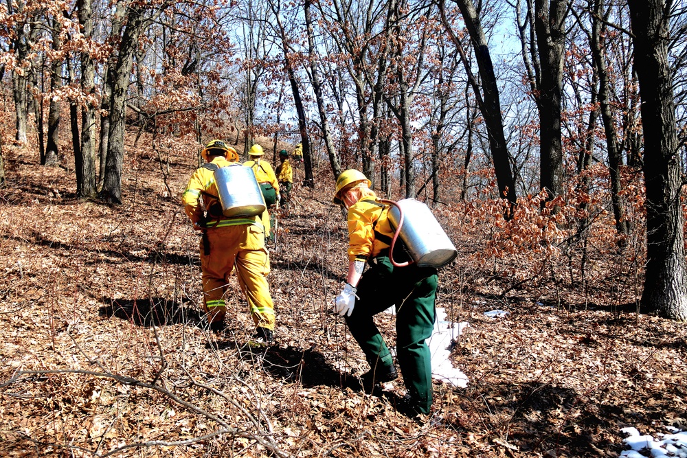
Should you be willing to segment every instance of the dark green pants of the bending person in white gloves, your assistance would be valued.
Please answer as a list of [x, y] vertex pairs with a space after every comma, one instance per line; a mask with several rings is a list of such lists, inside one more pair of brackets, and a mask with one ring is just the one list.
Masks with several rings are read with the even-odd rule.
[[[370, 262], [358, 284], [355, 307], [346, 324], [370, 366], [393, 364], [389, 348], [374, 324], [374, 315], [396, 304], [396, 354], [403, 381], [422, 413], [432, 400], [431, 354], [425, 340], [434, 327], [436, 269], [416, 264], [394, 267], [387, 256]], [[378, 363], [379, 359], [379, 363]]]

